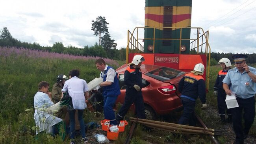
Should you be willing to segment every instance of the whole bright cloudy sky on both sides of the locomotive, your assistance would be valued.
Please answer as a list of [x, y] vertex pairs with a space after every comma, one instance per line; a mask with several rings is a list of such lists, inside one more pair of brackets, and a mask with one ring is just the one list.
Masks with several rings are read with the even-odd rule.
[[[94, 45], [91, 20], [105, 16], [120, 49], [127, 45], [127, 30], [145, 25], [145, 0], [1, 0], [0, 5], [0, 29], [42, 46]], [[212, 52], [255, 53], [255, 17], [256, 0], [192, 1], [191, 27], [209, 30]]]

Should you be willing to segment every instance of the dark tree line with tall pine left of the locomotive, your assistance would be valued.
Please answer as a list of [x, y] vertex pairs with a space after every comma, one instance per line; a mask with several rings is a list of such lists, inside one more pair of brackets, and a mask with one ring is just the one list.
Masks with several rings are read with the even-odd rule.
[[99, 36], [99, 43], [92, 46], [84, 46], [83, 49], [69, 45], [64, 47], [63, 43], [56, 42], [52, 47], [41, 46], [39, 43], [29, 43], [13, 38], [7, 27], [0, 30], [0, 46], [17, 47], [32, 50], [43, 50], [47, 52], [64, 53], [77, 56], [98, 56], [102, 58], [111, 58], [124, 61], [126, 59], [126, 49], [116, 49], [115, 43], [108, 32], [108, 22], [106, 18], [98, 16], [96, 20], [92, 20], [92, 29], [95, 36]]

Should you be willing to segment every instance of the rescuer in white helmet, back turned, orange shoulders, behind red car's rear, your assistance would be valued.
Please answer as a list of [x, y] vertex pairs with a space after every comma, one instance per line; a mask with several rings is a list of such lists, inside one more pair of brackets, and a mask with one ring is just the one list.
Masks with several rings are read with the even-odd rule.
[[180, 80], [178, 90], [181, 92], [181, 100], [183, 104], [183, 113], [178, 121], [178, 124], [187, 124], [190, 126], [195, 126], [195, 104], [196, 99], [199, 96], [202, 109], [207, 107], [206, 104], [206, 87], [204, 78], [201, 76], [204, 74], [204, 65], [198, 63], [195, 65], [193, 71]]

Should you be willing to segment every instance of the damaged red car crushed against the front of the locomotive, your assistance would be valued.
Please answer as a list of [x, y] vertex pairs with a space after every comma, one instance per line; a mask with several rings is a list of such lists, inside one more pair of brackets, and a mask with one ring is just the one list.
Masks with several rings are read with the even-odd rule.
[[[123, 104], [126, 85], [124, 83], [124, 72], [128, 65], [122, 65], [117, 68], [121, 94], [116, 103]], [[142, 94], [145, 105], [145, 114], [147, 119], [156, 119], [157, 115], [168, 114], [175, 110], [182, 109], [180, 92], [178, 92], [178, 82], [184, 76], [185, 72], [169, 67], [157, 65], [141, 65], [142, 72]], [[100, 93], [92, 95], [94, 109], [102, 111], [103, 98]], [[102, 103], [100, 103], [102, 102]], [[98, 104], [96, 104], [98, 103]], [[134, 110], [134, 104], [131, 106]]]

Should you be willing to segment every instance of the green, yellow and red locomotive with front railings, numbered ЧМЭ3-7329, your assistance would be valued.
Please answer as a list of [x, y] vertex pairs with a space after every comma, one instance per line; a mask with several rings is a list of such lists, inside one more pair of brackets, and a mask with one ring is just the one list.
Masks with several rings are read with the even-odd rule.
[[209, 74], [209, 31], [191, 27], [191, 10], [192, 0], [146, 0], [145, 27], [128, 31], [126, 63], [141, 54], [145, 64], [185, 72], [203, 63]]

